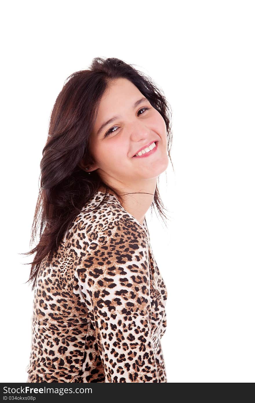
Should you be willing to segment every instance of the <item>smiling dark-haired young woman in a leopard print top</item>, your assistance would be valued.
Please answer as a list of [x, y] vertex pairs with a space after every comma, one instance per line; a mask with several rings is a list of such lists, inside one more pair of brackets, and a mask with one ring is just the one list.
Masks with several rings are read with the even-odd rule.
[[167, 382], [167, 291], [145, 213], [166, 218], [159, 175], [170, 106], [133, 66], [95, 58], [51, 113], [33, 222], [40, 224], [27, 382]]

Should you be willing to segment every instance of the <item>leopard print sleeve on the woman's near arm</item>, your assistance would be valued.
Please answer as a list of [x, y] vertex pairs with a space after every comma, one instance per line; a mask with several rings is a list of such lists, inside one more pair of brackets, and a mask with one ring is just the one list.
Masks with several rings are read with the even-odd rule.
[[83, 255], [75, 285], [95, 328], [106, 382], [158, 382], [145, 233], [112, 225]]

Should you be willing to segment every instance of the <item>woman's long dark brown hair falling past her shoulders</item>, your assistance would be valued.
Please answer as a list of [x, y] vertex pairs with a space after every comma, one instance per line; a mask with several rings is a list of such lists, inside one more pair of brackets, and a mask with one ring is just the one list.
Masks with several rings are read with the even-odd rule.
[[[126, 78], [145, 96], [164, 118], [168, 138], [168, 156], [172, 145], [172, 110], [160, 89], [150, 77], [131, 64], [117, 58], [96, 57], [88, 70], [71, 74], [65, 81], [50, 115], [48, 139], [41, 159], [41, 183], [31, 229], [31, 241], [39, 226], [39, 243], [23, 255], [36, 253], [31, 264], [27, 282], [33, 281], [41, 261], [48, 255], [48, 264], [57, 251], [64, 234], [73, 220], [99, 188], [105, 189], [106, 198], [111, 190], [123, 203], [117, 189], [110, 187], [100, 178], [97, 170], [87, 174], [79, 167], [81, 160], [93, 163], [89, 150], [89, 138], [97, 116], [100, 100], [110, 81]], [[172, 163], [172, 161], [171, 161]], [[158, 177], [159, 179], [159, 177]], [[103, 201], [104, 201], [103, 199]], [[168, 218], [167, 210], [160, 198], [158, 180], [151, 210], [158, 210], [162, 220]], [[155, 211], [156, 212], [156, 211]]]

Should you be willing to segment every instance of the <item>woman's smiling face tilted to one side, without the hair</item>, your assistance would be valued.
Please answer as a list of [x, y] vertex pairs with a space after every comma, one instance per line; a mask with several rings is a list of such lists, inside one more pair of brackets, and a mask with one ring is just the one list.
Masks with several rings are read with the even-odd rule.
[[[157, 179], [168, 167], [165, 121], [147, 99], [141, 98], [143, 94], [131, 81], [119, 78], [100, 101], [90, 139], [95, 164], [87, 172], [97, 169], [111, 185], [144, 187], [148, 179]], [[134, 157], [154, 141], [152, 152]]]

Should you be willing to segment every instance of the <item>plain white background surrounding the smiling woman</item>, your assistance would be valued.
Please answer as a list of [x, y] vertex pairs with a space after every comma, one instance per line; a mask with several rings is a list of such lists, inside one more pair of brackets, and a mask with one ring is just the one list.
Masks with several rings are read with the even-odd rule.
[[50, 112], [93, 57], [135, 64], [172, 107], [171, 219], [147, 222], [168, 289], [168, 382], [254, 382], [252, 1], [9, 1], [1, 16], [1, 382], [26, 382], [30, 230]]

